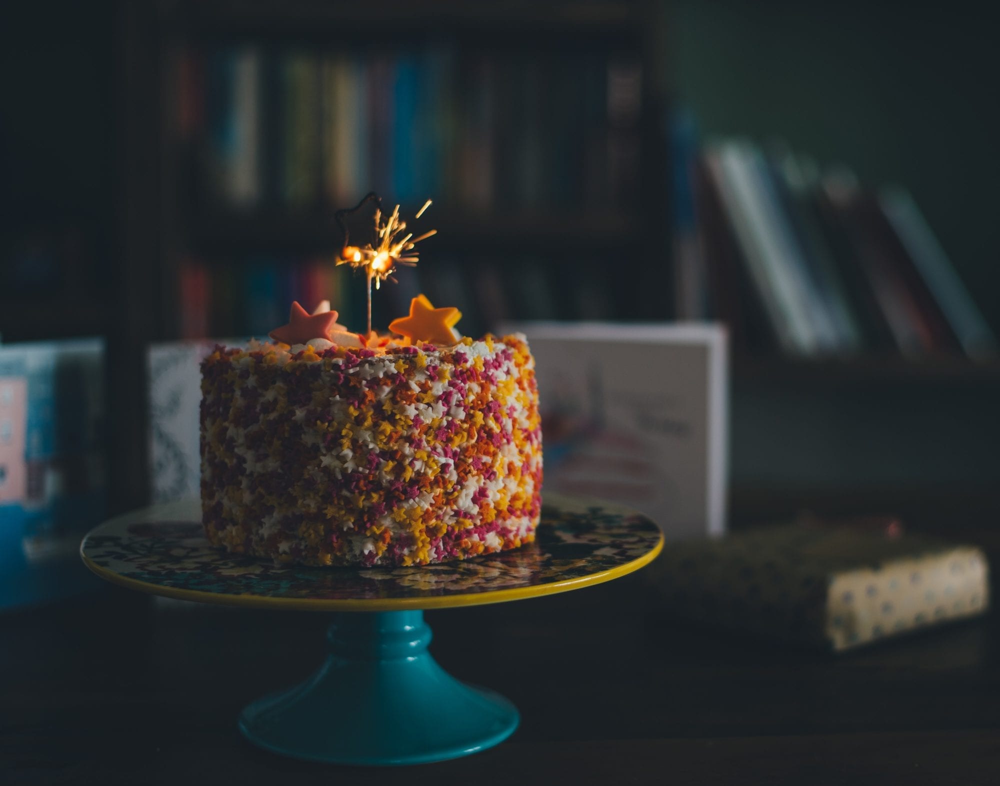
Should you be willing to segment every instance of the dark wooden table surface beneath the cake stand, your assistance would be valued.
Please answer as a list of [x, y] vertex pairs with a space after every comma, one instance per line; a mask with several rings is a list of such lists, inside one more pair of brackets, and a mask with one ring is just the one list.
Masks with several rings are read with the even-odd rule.
[[441, 664], [522, 722], [405, 770], [296, 762], [238, 733], [245, 703], [319, 664], [325, 615], [114, 587], [7, 615], [0, 783], [1000, 783], [992, 617], [833, 657], [665, 618], [643, 582], [428, 613]]

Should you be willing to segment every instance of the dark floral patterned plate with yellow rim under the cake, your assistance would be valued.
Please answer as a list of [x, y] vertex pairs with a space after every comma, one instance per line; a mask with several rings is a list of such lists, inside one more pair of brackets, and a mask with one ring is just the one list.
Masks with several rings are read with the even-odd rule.
[[549, 595], [624, 576], [663, 547], [645, 516], [548, 494], [534, 543], [501, 554], [412, 568], [277, 566], [226, 554], [202, 534], [197, 501], [112, 519], [80, 545], [101, 578], [203, 603], [314, 611], [398, 611]]

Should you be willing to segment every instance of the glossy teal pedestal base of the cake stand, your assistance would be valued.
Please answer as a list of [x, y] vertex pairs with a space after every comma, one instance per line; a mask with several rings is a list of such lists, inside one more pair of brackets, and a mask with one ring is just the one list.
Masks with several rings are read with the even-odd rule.
[[401, 765], [476, 753], [517, 728], [514, 705], [431, 657], [421, 611], [337, 614], [328, 639], [315, 675], [243, 710], [247, 739], [297, 759]]

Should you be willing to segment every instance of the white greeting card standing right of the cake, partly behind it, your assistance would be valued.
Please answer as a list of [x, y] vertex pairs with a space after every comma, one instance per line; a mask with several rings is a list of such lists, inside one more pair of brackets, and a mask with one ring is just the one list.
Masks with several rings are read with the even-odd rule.
[[544, 490], [634, 507], [668, 538], [725, 530], [728, 380], [717, 325], [520, 323], [535, 356]]

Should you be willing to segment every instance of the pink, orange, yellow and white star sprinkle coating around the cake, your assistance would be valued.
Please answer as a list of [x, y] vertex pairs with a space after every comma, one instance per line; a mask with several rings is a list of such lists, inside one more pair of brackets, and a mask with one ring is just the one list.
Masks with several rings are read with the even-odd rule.
[[202, 513], [215, 545], [282, 563], [397, 566], [534, 540], [541, 420], [520, 334], [442, 349], [218, 346], [201, 387]]

